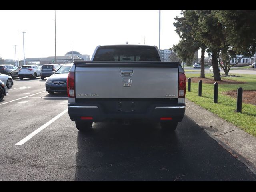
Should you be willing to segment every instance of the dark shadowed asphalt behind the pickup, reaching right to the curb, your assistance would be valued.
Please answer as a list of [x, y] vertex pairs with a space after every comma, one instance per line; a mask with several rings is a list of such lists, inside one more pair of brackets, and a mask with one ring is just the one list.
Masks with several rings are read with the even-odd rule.
[[174, 133], [159, 124], [95, 123], [78, 132], [76, 181], [245, 181], [256, 176], [185, 116]]

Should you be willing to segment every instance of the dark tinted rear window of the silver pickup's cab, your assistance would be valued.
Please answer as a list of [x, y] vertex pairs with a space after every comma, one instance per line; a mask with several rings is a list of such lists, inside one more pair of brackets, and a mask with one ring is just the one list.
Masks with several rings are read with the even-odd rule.
[[94, 61], [161, 61], [155, 47], [102, 46], [95, 53]]

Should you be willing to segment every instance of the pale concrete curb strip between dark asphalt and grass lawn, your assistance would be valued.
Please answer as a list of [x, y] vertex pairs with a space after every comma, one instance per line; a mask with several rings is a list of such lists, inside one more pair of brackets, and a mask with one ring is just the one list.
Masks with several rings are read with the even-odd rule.
[[185, 101], [186, 116], [256, 174], [256, 138], [188, 99]]

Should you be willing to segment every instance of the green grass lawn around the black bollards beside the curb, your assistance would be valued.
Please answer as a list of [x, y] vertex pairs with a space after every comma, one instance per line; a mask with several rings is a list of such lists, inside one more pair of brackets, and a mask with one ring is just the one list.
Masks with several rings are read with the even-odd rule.
[[[211, 75], [205, 74], [206, 78], [212, 78]], [[243, 81], [246, 84], [219, 84], [218, 103], [213, 103], [214, 84], [206, 84], [203, 80], [202, 97], [198, 96], [198, 83], [191, 83], [191, 92], [188, 92], [187, 82], [186, 98], [256, 137], [256, 106], [243, 103], [242, 113], [236, 113], [236, 98], [223, 94], [227, 90], [237, 90], [238, 87], [243, 90], [256, 90], [256, 75], [239, 75], [241, 77], [222, 78]], [[199, 76], [199, 73], [186, 74], [187, 78]]]

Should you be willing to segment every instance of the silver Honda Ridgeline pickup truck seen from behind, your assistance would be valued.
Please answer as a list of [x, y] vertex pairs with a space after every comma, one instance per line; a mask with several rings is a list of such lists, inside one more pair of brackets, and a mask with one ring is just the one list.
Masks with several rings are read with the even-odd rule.
[[146, 120], [175, 130], [185, 113], [186, 76], [156, 46], [97, 46], [68, 74], [68, 114], [81, 131], [92, 122]]

